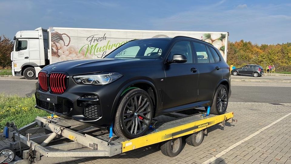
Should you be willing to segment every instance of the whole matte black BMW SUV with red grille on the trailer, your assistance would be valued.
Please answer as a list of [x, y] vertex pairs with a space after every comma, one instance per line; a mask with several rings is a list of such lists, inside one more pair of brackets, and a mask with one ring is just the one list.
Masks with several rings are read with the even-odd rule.
[[185, 36], [132, 40], [100, 60], [70, 60], [38, 74], [36, 108], [136, 138], [152, 118], [196, 107], [226, 111], [229, 66], [209, 43]]

